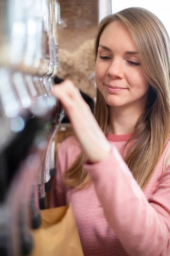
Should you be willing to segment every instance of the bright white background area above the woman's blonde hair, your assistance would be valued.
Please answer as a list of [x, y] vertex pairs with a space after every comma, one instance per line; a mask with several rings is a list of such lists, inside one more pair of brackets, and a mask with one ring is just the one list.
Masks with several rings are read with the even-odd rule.
[[128, 7], [142, 7], [153, 12], [170, 36], [170, 0], [112, 0], [112, 13]]

